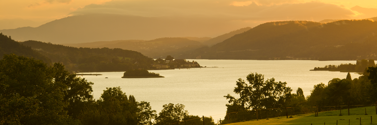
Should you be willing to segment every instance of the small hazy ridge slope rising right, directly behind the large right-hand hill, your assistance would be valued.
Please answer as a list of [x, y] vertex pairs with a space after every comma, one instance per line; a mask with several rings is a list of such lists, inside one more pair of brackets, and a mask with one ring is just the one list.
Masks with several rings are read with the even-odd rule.
[[247, 30], [250, 30], [250, 29], [251, 29], [251, 27], [245, 27], [245, 28], [241, 28], [241, 29], [238, 29], [238, 30], [234, 30], [234, 31], [232, 31], [230, 33], [226, 33], [226, 34], [217, 36], [215, 38], [209, 39], [208, 41], [203, 42], [203, 44], [206, 44], [208, 46], [213, 46], [213, 45], [215, 45], [215, 44], [217, 44], [219, 42], [224, 41], [225, 39], [228, 39], [228, 38], [230, 38], [230, 37], [232, 37], [232, 36], [234, 36], [236, 34], [243, 33], [243, 32], [245, 32]]

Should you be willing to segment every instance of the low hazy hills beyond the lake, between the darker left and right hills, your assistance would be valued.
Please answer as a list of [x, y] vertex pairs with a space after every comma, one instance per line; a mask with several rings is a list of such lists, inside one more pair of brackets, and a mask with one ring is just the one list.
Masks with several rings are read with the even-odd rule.
[[212, 46], [224, 41], [236, 34], [250, 30], [250, 27], [234, 30], [230, 33], [209, 37], [181, 37], [181, 38], [158, 38], [150, 41], [144, 40], [118, 40], [118, 41], [98, 41], [79, 44], [64, 44], [71, 47], [89, 47], [89, 48], [121, 48], [125, 50], [133, 50], [143, 53], [148, 57], [159, 58], [167, 55], [180, 57], [181, 53], [192, 51], [204, 46]]

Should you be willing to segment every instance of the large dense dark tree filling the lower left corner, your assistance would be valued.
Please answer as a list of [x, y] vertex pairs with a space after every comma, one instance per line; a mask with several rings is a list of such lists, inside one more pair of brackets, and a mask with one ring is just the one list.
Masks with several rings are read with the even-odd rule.
[[54, 70], [41, 60], [4, 55], [0, 60], [1, 124], [67, 124], [66, 84], [54, 80]]

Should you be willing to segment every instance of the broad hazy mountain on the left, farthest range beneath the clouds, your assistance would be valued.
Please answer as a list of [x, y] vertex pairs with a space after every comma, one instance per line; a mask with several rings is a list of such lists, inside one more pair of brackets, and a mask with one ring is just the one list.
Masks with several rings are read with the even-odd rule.
[[66, 17], [39, 27], [0, 30], [16, 41], [44, 41], [53, 44], [150, 40], [162, 37], [215, 37], [245, 24], [227, 24], [215, 17], [140, 17], [120, 14], [88, 14]]

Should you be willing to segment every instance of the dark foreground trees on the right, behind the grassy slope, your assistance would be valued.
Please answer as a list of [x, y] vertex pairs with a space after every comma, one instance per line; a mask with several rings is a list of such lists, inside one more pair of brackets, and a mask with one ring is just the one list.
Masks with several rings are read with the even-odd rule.
[[[306, 97], [301, 88], [296, 93], [291, 93], [292, 89], [285, 87], [287, 83], [276, 82], [274, 78], [264, 81], [264, 75], [261, 74], [251, 73], [247, 76], [247, 81], [245, 83], [240, 78], [236, 82], [234, 92], [240, 98], [234, 98], [230, 94], [224, 96], [229, 99], [227, 113], [233, 115], [227, 114], [222, 123], [285, 116], [285, 107], [294, 107], [290, 113], [305, 114], [311, 112], [303, 107], [367, 105], [377, 102], [377, 67], [367, 68], [359, 78], [352, 79], [348, 73], [344, 79], [334, 78], [327, 84], [314, 85], [310, 95]], [[321, 110], [320, 108], [319, 111]], [[245, 117], [246, 114], [248, 117]]]

